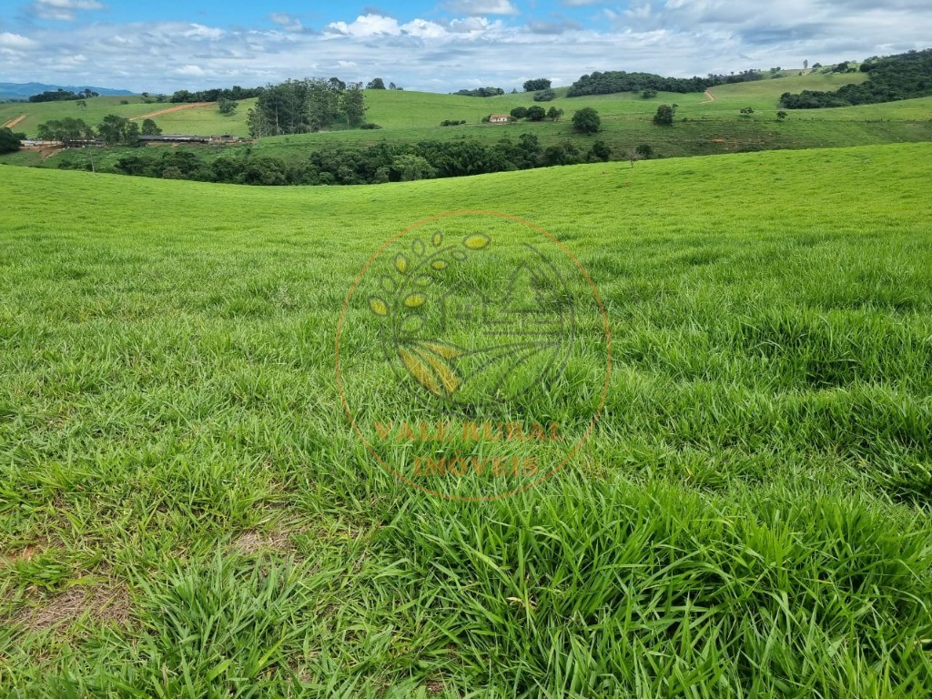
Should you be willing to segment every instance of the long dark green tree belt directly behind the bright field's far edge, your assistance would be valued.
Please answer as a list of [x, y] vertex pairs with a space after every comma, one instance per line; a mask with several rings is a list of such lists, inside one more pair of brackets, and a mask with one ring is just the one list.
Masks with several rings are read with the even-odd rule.
[[[158, 151], [133, 152], [117, 159], [109, 169], [128, 175], [241, 185], [366, 185], [572, 165], [605, 161], [611, 156], [611, 148], [602, 141], [588, 149], [569, 141], [543, 147], [532, 133], [522, 133], [517, 141], [504, 137], [494, 144], [467, 139], [372, 146], [332, 144], [293, 161], [255, 156], [252, 147], [240, 155], [212, 160], [190, 148]], [[88, 166], [78, 156], [62, 158], [59, 167]]]

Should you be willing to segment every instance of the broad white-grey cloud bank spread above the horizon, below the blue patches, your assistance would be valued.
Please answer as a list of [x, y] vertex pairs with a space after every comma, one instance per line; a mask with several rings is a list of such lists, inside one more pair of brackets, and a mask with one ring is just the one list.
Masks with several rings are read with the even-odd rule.
[[[877, 7], [867, 7], [870, 2]], [[651, 12], [624, 14], [618, 9], [624, 5], [612, 3], [616, 9], [609, 14], [603, 12], [608, 7], [598, 7], [596, 28], [559, 17], [523, 23], [472, 15], [408, 20], [375, 10], [334, 22], [323, 34], [287, 31], [292, 16], [284, 23], [269, 16], [276, 26], [266, 30], [190, 22], [7, 24], [0, 33], [0, 75], [16, 82], [163, 92], [305, 75], [348, 82], [381, 75], [405, 89], [442, 92], [485, 85], [520, 89], [528, 74], [549, 75], [557, 85], [596, 70], [705, 75], [926, 48], [932, 13], [910, 8], [918, 2], [784, 0], [780, 7], [748, 10], [739, 0], [637, 0], [635, 9]], [[850, 11], [856, 5], [859, 11]], [[564, 30], [571, 34], [555, 35]], [[87, 61], [64, 60], [78, 54]]]

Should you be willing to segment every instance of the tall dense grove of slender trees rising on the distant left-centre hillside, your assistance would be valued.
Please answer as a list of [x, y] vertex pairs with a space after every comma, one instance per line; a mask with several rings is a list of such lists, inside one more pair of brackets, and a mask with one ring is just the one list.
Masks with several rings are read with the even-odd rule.
[[332, 128], [338, 119], [350, 128], [363, 127], [365, 110], [362, 83], [307, 77], [263, 89], [247, 123], [256, 138], [314, 133]]

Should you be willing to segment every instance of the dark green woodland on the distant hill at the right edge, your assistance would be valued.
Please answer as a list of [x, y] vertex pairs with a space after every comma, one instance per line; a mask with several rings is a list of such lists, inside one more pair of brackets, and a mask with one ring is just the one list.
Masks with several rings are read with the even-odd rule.
[[[844, 67], [846, 71], [847, 62]], [[844, 85], [832, 91], [784, 92], [780, 95], [780, 104], [787, 109], [820, 109], [932, 95], [932, 48], [883, 58], [874, 56], [861, 63], [860, 71], [870, 77], [859, 85]]]

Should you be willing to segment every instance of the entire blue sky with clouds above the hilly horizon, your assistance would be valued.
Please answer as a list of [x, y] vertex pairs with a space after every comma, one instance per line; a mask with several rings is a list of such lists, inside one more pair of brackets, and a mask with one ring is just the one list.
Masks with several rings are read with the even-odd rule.
[[932, 46], [930, 0], [3, 0], [0, 82], [136, 91], [305, 75], [448, 92], [798, 67]]

